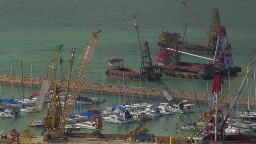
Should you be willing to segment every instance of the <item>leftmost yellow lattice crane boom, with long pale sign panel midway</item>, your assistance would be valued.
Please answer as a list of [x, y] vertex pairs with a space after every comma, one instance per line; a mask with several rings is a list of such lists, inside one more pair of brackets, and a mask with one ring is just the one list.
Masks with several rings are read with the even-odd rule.
[[34, 107], [34, 111], [31, 115], [30, 121], [28, 123], [28, 127], [26, 128], [26, 130], [23, 132], [23, 144], [30, 144], [31, 141], [31, 137], [33, 137], [33, 133], [35, 131], [36, 128], [36, 121], [38, 121], [38, 117], [41, 114], [42, 108], [43, 108], [43, 103], [46, 99], [46, 95], [49, 91], [50, 85], [53, 82], [53, 78], [57, 69], [57, 64], [59, 61], [59, 54], [60, 54], [60, 50], [63, 47], [63, 45], [59, 45], [56, 47], [52, 58], [50, 59], [49, 63], [48, 63], [48, 68], [46, 70], [45, 73], [45, 77], [44, 77], [44, 81], [43, 81], [43, 85], [41, 87], [38, 99], [36, 101], [36, 105]]

